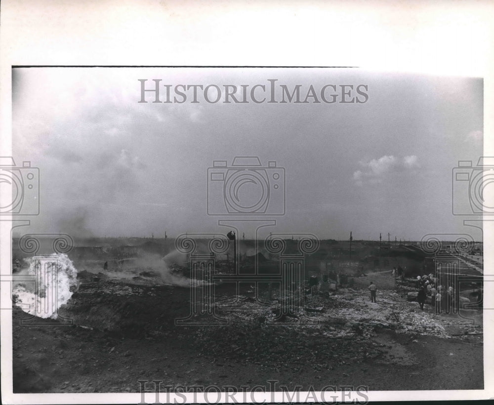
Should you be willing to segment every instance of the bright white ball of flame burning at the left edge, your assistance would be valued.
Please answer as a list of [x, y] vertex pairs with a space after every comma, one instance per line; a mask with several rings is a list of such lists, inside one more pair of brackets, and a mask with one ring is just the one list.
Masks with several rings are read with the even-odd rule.
[[56, 319], [57, 310], [65, 304], [78, 285], [77, 269], [64, 253], [24, 259], [29, 269], [22, 272], [33, 281], [13, 285], [12, 294], [24, 312], [40, 318]]

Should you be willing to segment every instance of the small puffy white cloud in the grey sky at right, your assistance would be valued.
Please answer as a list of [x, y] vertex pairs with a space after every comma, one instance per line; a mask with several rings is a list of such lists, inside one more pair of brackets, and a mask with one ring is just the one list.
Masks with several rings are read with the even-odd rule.
[[364, 182], [381, 183], [384, 178], [401, 173], [406, 170], [412, 170], [419, 167], [418, 158], [415, 155], [397, 158], [392, 155], [385, 155], [379, 159], [372, 159], [369, 162], [359, 162], [363, 167], [362, 170], [356, 170], [353, 173], [353, 179], [358, 186]]

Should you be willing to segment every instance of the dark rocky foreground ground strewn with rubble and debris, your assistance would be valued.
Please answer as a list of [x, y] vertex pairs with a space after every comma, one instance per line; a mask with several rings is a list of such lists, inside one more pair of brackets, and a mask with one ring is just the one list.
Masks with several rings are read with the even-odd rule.
[[[146, 275], [143, 276], [146, 278]], [[369, 281], [378, 286], [371, 303]], [[421, 311], [389, 273], [354, 289], [307, 296], [305, 311], [280, 322], [273, 302], [218, 290], [228, 325], [175, 325], [189, 289], [142, 280], [84, 282], [59, 310], [74, 324], [20, 324], [13, 311], [14, 392], [138, 392], [164, 385], [365, 385], [369, 390], [482, 389], [481, 311], [469, 319]], [[399, 286], [398, 286], [399, 287]], [[412, 288], [412, 287], [408, 287]], [[240, 311], [226, 310], [237, 306]], [[223, 310], [222, 310], [223, 308]]]

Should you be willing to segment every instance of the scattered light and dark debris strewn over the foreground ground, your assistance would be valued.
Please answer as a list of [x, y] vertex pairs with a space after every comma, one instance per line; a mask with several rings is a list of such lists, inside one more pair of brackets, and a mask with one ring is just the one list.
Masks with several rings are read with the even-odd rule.
[[[324, 368], [378, 357], [374, 338], [382, 329], [443, 338], [482, 333], [482, 326], [471, 320], [445, 320], [421, 311], [393, 290], [380, 290], [376, 303], [367, 292], [350, 288], [324, 297], [309, 295], [304, 311], [281, 318], [277, 300], [268, 305], [245, 296], [218, 301], [220, 316], [230, 324], [197, 330], [201, 355], [260, 366], [286, 367], [305, 359]], [[452, 325], [460, 333], [448, 331]]]

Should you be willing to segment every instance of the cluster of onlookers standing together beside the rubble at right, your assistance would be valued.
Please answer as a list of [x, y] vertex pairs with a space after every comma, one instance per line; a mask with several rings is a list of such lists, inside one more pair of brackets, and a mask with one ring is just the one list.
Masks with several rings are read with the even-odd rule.
[[431, 298], [431, 305], [436, 309], [436, 314], [445, 312], [450, 313], [454, 305], [454, 288], [450, 285], [447, 289], [443, 285], [437, 285], [438, 280], [429, 274], [417, 276], [417, 302], [420, 309], [424, 309], [424, 303], [427, 296]]

